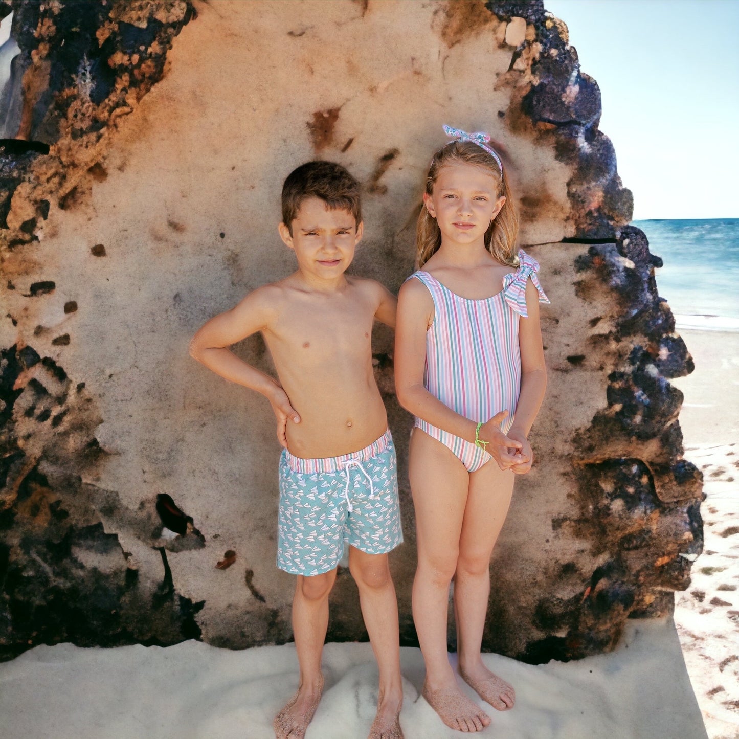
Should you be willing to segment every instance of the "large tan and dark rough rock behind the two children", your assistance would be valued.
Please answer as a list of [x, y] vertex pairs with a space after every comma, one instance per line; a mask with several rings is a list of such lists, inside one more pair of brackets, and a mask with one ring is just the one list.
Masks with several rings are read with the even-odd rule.
[[[669, 382], [692, 360], [658, 296], [661, 261], [627, 225], [599, 88], [540, 1], [0, 8], [0, 655], [291, 638], [270, 409], [187, 342], [291, 269], [279, 188], [314, 157], [364, 183], [355, 269], [397, 291], [442, 123], [499, 143], [552, 300], [537, 464], [494, 553], [486, 647], [578, 658], [613, 647], [625, 619], [670, 610], [702, 542], [701, 474], [682, 459]], [[392, 334], [374, 350], [414, 644], [411, 419]], [[269, 371], [258, 336], [237, 351]], [[332, 601], [330, 638], [366, 638], [343, 568]]]

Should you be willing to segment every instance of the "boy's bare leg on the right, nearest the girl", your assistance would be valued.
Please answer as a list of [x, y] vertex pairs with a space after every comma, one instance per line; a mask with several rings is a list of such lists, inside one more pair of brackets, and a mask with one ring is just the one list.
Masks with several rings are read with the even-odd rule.
[[403, 706], [403, 685], [398, 600], [387, 554], [366, 554], [350, 547], [349, 569], [357, 583], [364, 625], [380, 669], [377, 716], [369, 739], [401, 739], [403, 732], [398, 716]]

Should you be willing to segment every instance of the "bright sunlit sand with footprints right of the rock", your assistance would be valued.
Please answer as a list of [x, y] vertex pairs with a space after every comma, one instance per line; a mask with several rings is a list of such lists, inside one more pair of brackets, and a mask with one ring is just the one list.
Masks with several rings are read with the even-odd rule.
[[678, 330], [695, 372], [685, 395], [685, 456], [704, 474], [704, 554], [675, 599], [675, 624], [710, 739], [739, 737], [739, 333]]

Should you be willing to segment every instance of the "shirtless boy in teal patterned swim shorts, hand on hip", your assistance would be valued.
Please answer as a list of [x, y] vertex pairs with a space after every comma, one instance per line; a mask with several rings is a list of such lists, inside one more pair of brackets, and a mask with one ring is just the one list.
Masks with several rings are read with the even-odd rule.
[[[403, 540], [395, 449], [372, 373], [372, 323], [395, 326], [395, 298], [378, 282], [345, 274], [363, 224], [357, 181], [338, 164], [309, 162], [282, 188], [279, 235], [298, 268], [208, 321], [190, 353], [222, 377], [261, 392], [277, 418], [277, 566], [297, 575], [293, 632], [298, 692], [274, 721], [300, 739], [321, 699], [321, 652], [336, 565], [349, 568], [380, 669], [370, 739], [403, 736], [398, 604], [387, 553]], [[228, 350], [256, 331], [279, 381]]]

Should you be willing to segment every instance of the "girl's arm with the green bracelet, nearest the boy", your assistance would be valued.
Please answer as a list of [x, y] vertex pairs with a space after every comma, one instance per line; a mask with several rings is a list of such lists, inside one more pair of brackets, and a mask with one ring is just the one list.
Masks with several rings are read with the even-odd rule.
[[[395, 392], [407, 411], [427, 423], [474, 443], [477, 423], [454, 412], [423, 386], [426, 364], [426, 330], [434, 317], [434, 302], [429, 290], [417, 279], [403, 284], [398, 295], [398, 324], [395, 327]], [[480, 439], [489, 441], [486, 450], [501, 469], [520, 461], [508, 449], [520, 449], [520, 441], [500, 431], [499, 413], [480, 429]], [[496, 430], [497, 429], [497, 430]]]

